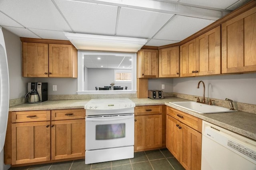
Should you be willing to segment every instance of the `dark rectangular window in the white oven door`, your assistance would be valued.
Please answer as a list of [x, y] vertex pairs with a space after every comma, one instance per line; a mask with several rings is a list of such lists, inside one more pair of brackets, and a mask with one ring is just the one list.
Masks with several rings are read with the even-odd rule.
[[125, 123], [96, 125], [96, 140], [109, 140], [125, 137]]

